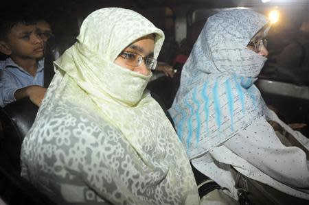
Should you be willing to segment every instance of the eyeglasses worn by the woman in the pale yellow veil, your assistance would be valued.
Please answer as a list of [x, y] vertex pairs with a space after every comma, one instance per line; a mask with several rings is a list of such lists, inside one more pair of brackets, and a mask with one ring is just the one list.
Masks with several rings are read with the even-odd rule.
[[124, 51], [119, 56], [124, 58], [125, 63], [130, 67], [138, 67], [142, 60], [144, 60], [146, 67], [150, 70], [155, 70], [157, 66], [157, 60], [155, 58], [143, 57], [138, 53]]

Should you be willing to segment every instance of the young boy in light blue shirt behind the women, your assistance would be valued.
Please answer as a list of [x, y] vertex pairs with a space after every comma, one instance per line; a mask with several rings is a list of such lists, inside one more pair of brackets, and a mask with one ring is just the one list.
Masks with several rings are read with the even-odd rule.
[[23, 97], [41, 105], [44, 47], [36, 29], [36, 21], [27, 15], [1, 18], [0, 52], [9, 57], [0, 63], [0, 106]]

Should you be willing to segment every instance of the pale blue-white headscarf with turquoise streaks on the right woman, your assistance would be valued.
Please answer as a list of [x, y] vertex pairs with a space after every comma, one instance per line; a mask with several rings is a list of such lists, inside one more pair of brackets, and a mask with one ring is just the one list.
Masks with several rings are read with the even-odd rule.
[[264, 114], [254, 82], [266, 58], [247, 49], [262, 14], [229, 10], [209, 17], [181, 73], [169, 112], [190, 158], [227, 141]]

